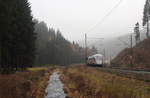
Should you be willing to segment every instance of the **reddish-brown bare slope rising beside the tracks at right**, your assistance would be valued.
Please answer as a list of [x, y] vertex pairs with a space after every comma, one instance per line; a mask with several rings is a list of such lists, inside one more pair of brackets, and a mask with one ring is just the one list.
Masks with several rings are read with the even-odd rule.
[[[132, 55], [132, 56], [131, 56]], [[136, 46], [126, 48], [112, 60], [113, 66], [150, 70], [150, 39], [145, 39]]]

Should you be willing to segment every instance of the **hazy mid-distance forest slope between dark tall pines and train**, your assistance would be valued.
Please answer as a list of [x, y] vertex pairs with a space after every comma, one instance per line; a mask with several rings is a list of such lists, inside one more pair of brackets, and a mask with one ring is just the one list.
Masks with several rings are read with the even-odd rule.
[[37, 34], [36, 65], [68, 65], [85, 61], [84, 48], [66, 40], [59, 29], [54, 30], [47, 27], [45, 22], [34, 21]]

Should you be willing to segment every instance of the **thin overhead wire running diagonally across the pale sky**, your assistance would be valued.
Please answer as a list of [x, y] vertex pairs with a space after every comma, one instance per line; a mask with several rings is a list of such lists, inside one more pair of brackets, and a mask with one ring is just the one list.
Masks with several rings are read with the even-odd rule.
[[89, 33], [92, 29], [94, 29], [97, 25], [100, 25], [103, 23], [103, 21], [111, 15], [111, 13], [122, 3], [123, 0], [119, 0], [119, 2], [97, 23], [95, 24], [91, 29], [89, 29], [86, 33]]

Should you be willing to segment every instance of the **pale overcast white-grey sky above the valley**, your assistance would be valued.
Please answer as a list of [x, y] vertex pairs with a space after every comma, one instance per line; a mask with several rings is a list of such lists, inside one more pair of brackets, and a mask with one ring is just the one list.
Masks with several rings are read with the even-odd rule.
[[142, 22], [145, 0], [123, 0], [99, 23], [119, 1], [29, 0], [35, 18], [45, 21], [49, 27], [59, 28], [67, 39], [76, 41], [84, 39], [84, 33], [108, 38], [133, 32], [135, 23]]

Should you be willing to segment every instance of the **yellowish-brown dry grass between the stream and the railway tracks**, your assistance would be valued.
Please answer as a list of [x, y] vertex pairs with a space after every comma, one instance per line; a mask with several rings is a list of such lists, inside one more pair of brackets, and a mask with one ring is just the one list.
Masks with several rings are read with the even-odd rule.
[[63, 69], [61, 80], [70, 98], [150, 98], [150, 84], [94, 68]]

